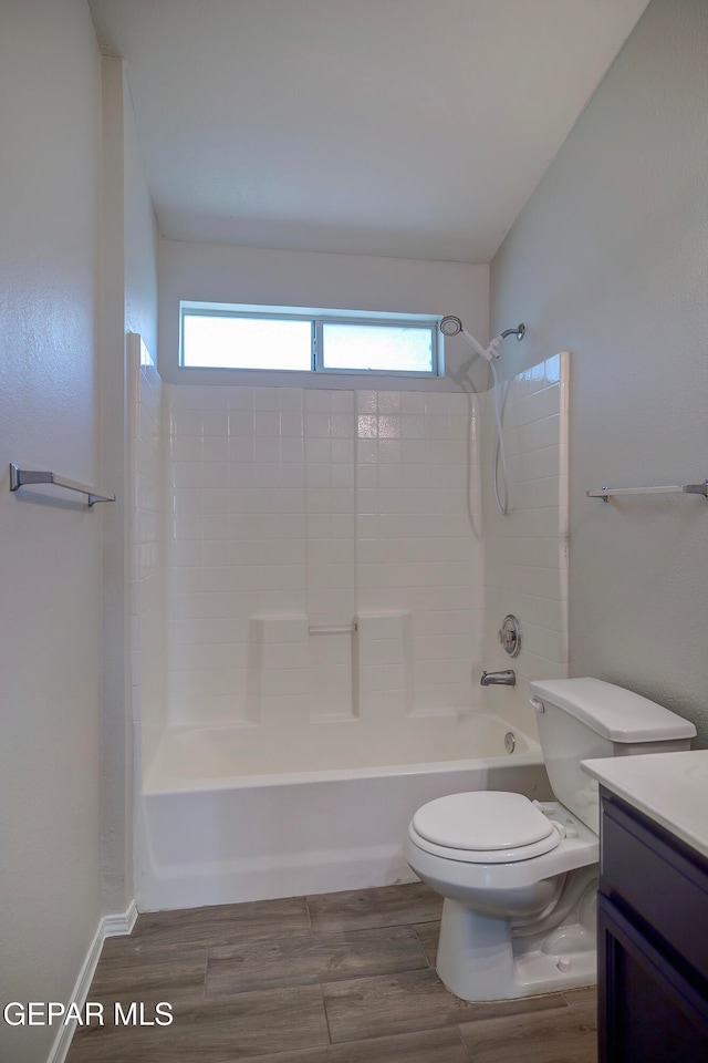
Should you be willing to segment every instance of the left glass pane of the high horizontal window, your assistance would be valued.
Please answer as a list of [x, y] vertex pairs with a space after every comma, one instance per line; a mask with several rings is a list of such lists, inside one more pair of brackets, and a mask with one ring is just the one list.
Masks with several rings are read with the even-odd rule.
[[183, 317], [183, 365], [208, 369], [312, 369], [309, 321]]

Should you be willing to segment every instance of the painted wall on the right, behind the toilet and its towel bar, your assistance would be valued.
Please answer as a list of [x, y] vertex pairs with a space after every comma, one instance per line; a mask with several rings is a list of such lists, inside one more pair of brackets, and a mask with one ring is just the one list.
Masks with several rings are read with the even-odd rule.
[[571, 674], [633, 688], [708, 744], [699, 497], [585, 498], [708, 475], [708, 6], [654, 0], [492, 265], [506, 355], [570, 349]]

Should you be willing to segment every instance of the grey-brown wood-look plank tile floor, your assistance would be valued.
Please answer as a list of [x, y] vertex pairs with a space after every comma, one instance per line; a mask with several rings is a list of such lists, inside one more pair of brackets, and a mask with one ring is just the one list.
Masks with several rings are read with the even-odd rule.
[[[595, 1063], [595, 992], [467, 1003], [423, 884], [163, 911], [108, 938], [66, 1063]], [[115, 1003], [173, 1005], [116, 1025]], [[139, 1012], [137, 1012], [139, 1018]]]

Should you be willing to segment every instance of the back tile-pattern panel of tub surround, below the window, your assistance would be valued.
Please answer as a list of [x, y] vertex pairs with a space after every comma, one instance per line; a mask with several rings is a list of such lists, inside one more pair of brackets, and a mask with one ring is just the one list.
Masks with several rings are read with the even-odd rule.
[[166, 392], [170, 721], [469, 709], [476, 401]]

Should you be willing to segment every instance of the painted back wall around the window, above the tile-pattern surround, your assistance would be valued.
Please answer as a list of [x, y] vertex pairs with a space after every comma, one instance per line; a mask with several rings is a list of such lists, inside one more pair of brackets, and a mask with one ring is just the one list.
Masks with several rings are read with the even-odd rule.
[[[254, 247], [159, 244], [159, 371], [167, 383], [177, 383], [179, 301], [233, 302], [335, 310], [379, 310], [397, 313], [455, 313], [480, 342], [488, 340], [489, 267], [462, 262], [376, 258], [364, 255], [323, 255], [277, 251]], [[460, 337], [446, 341], [445, 359], [451, 371], [469, 361], [470, 350]], [[218, 370], [190, 370], [198, 384], [242, 383], [272, 385], [273, 374], [242, 373], [239, 380]], [[479, 363], [469, 381], [486, 388]], [[363, 376], [293, 373], [300, 388], [366, 388]], [[459, 391], [448, 374], [442, 380], [389, 378], [397, 390]]]

